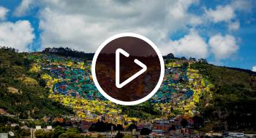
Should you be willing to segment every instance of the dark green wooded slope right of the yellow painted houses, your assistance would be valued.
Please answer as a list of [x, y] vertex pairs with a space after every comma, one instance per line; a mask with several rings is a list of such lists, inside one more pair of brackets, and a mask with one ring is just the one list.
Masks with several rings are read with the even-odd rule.
[[203, 116], [211, 120], [205, 129], [255, 131], [255, 73], [201, 63], [195, 63], [193, 68], [214, 84], [211, 104], [202, 106]]

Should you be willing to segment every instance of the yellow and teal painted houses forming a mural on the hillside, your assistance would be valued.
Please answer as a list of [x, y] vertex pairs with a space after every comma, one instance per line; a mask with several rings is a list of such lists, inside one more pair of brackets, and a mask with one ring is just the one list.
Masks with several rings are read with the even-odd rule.
[[29, 59], [34, 61], [30, 72], [39, 73], [45, 80], [50, 89], [49, 97], [72, 107], [76, 115], [86, 121], [95, 122], [104, 118], [111, 123], [129, 124], [160, 118], [189, 120], [200, 114], [197, 110], [200, 96], [208, 94], [211, 97], [212, 84], [198, 70], [190, 68], [194, 61], [167, 60], [163, 84], [157, 94], [148, 100], [159, 115], [135, 118], [122, 112], [120, 105], [106, 100], [97, 91], [91, 77], [91, 61], [53, 54], [31, 54]]

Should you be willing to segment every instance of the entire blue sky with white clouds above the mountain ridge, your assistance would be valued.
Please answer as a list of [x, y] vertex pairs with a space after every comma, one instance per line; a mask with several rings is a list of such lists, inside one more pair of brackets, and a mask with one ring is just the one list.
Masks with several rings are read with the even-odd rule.
[[0, 0], [0, 46], [19, 52], [95, 52], [117, 33], [139, 33], [163, 55], [256, 71], [254, 0]]

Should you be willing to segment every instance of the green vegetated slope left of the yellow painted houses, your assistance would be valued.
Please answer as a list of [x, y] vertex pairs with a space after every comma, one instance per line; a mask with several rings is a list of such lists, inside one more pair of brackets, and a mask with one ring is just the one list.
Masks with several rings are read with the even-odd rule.
[[0, 48], [0, 108], [18, 118], [59, 116], [72, 110], [48, 99], [48, 89], [29, 73], [26, 53]]

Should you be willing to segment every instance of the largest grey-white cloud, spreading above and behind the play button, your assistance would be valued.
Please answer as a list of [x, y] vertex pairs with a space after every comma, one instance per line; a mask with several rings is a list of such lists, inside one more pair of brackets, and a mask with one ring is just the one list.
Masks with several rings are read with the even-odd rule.
[[44, 0], [39, 15], [42, 47], [69, 46], [95, 52], [106, 38], [124, 32], [140, 33], [160, 47], [162, 41], [170, 41], [170, 33], [201, 23], [196, 15], [187, 12], [192, 4], [197, 0]]

